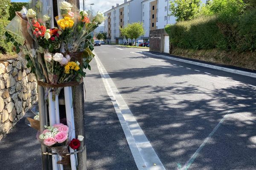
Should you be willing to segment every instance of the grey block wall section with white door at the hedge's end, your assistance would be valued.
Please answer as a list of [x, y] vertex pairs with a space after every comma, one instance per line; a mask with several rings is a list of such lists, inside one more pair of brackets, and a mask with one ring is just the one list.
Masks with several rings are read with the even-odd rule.
[[149, 51], [164, 52], [164, 37], [169, 36], [164, 29], [151, 30], [149, 32]]

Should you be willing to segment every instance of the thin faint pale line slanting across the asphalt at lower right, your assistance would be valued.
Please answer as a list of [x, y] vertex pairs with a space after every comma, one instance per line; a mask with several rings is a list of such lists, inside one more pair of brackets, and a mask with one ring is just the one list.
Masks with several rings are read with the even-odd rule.
[[212, 135], [216, 132], [216, 130], [220, 127], [221, 123], [224, 121], [224, 119], [227, 117], [228, 113], [225, 114], [225, 116], [221, 119], [221, 121], [218, 123], [217, 126], [212, 130], [212, 132], [207, 136], [207, 138], [204, 139], [204, 142], [200, 145], [200, 147], [195, 151], [195, 153], [191, 156], [191, 158], [186, 162], [186, 164], [180, 169], [180, 170], [188, 170], [191, 164], [194, 162], [196, 157], [198, 156], [198, 153], [203, 149], [205, 144], [209, 141], [209, 139], [212, 137]]

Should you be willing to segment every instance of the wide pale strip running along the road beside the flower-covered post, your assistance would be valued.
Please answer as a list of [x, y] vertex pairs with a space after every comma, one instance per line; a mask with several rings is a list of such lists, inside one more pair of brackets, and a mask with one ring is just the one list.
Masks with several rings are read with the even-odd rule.
[[126, 140], [138, 170], [165, 170], [157, 153], [143, 133], [143, 130], [140, 128], [140, 125], [137, 123], [125, 100], [122, 98], [111, 77], [108, 75], [108, 72], [102, 65], [102, 62], [96, 54], [94, 58], [97, 62], [102, 81], [125, 133]]

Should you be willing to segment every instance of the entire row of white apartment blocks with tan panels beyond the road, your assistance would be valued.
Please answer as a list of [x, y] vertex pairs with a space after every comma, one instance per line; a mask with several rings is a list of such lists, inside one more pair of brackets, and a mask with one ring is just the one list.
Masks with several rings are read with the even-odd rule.
[[[207, 0], [202, 0], [206, 3]], [[104, 13], [105, 32], [108, 33], [110, 42], [122, 44], [124, 41], [120, 34], [119, 26], [128, 23], [143, 22], [145, 34], [139, 39], [149, 40], [150, 30], [165, 28], [167, 24], [176, 23], [176, 18], [170, 16], [170, 0], [124, 0], [124, 3]]]

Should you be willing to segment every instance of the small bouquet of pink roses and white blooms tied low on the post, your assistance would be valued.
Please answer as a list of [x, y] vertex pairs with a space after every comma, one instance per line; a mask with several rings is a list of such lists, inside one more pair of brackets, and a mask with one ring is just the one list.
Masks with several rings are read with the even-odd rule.
[[53, 126], [45, 126], [45, 130], [39, 135], [39, 139], [48, 147], [57, 147], [61, 145], [68, 146], [68, 132], [66, 125], [55, 124]]

